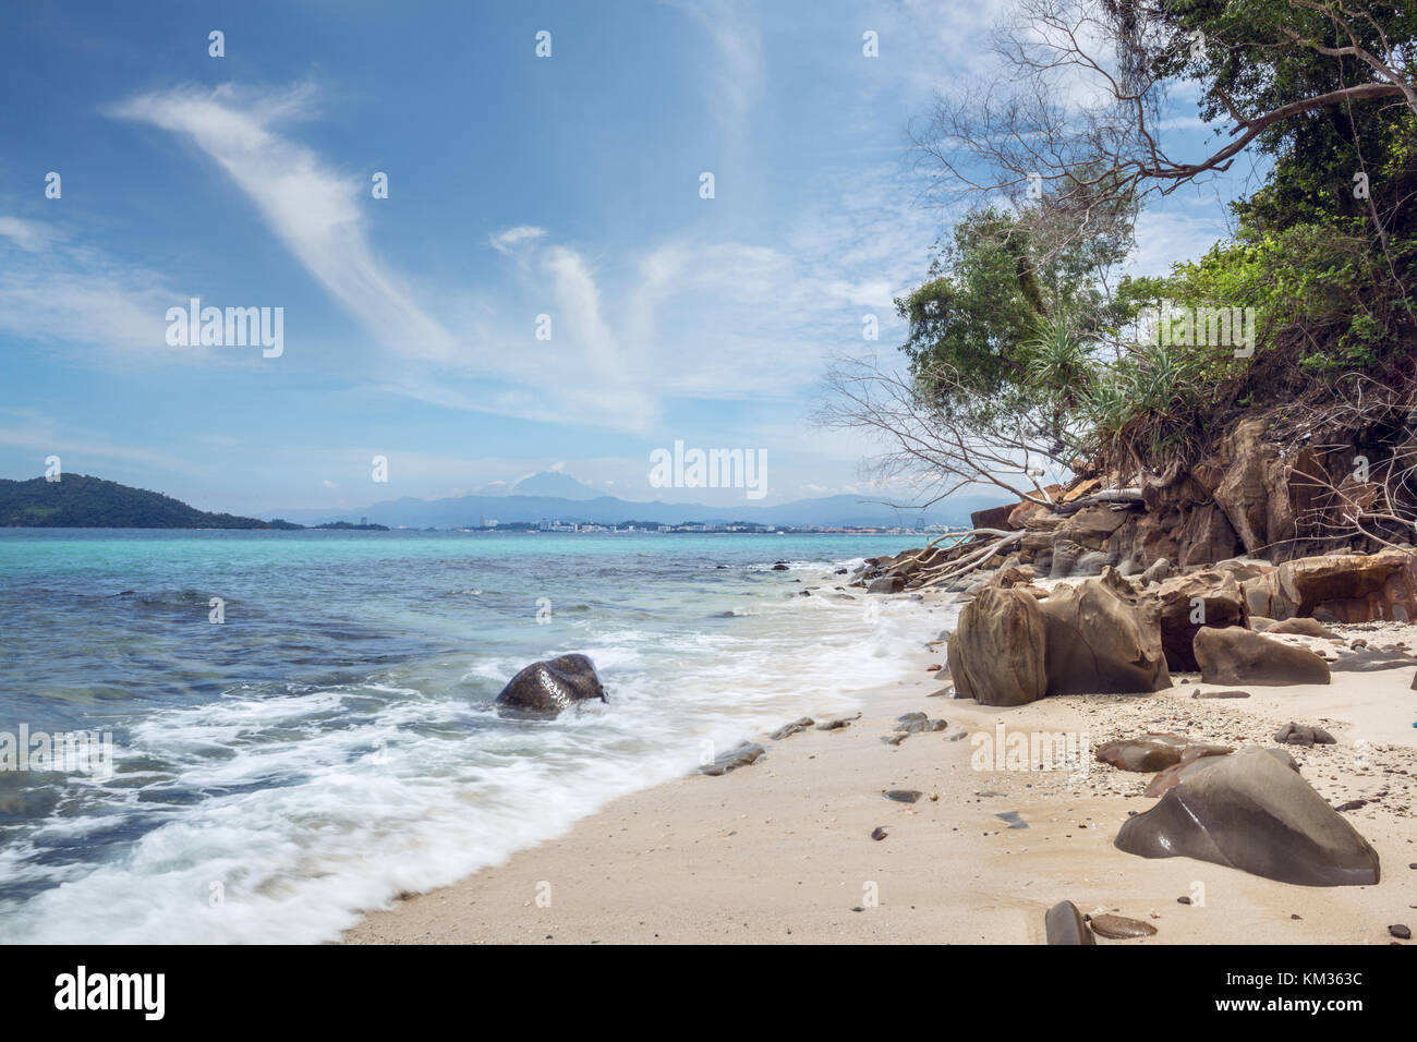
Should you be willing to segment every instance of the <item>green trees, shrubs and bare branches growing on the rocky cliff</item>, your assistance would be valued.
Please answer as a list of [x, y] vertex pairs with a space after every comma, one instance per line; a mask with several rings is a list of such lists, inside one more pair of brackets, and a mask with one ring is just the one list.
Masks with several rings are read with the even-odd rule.
[[[1289, 500], [1270, 534], [1411, 539], [1417, 7], [1019, 0], [996, 55], [915, 129], [972, 206], [897, 301], [904, 371], [843, 362], [823, 418], [883, 435], [879, 475], [925, 502], [992, 483], [1054, 509], [1078, 479], [1221, 502], [1258, 420], [1246, 466]], [[1209, 153], [1163, 145], [1182, 86], [1226, 126]], [[1149, 203], [1241, 156], [1263, 181], [1231, 237], [1118, 278]], [[1224, 513], [1254, 553], [1248, 502]]]

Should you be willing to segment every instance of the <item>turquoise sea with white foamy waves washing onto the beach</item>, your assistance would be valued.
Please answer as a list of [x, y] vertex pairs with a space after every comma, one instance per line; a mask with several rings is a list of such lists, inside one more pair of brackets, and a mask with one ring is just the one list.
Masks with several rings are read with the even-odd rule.
[[[920, 542], [0, 530], [0, 736], [113, 743], [111, 777], [0, 770], [0, 940], [336, 937], [856, 705], [934, 631], [833, 573]], [[606, 705], [493, 712], [572, 651]]]

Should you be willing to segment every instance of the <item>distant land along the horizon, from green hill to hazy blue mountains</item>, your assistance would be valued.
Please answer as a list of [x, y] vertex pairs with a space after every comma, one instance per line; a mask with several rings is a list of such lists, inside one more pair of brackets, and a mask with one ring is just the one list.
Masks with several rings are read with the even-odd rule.
[[[526, 495], [526, 492], [540, 495]], [[564, 495], [544, 495], [560, 491]], [[704, 506], [703, 503], [642, 503], [597, 496], [594, 489], [564, 474], [538, 474], [513, 486], [513, 495], [455, 499], [390, 499], [357, 510], [286, 510], [269, 520], [198, 510], [171, 496], [118, 482], [65, 474], [61, 481], [0, 479], [0, 527], [101, 529], [296, 529], [315, 527], [478, 527], [483, 520], [560, 520], [594, 525], [645, 522], [706, 525], [745, 522], [796, 527], [921, 527], [968, 525], [969, 513], [996, 506], [998, 496], [962, 496], [928, 510], [863, 503], [857, 496], [798, 499], [778, 506]]]

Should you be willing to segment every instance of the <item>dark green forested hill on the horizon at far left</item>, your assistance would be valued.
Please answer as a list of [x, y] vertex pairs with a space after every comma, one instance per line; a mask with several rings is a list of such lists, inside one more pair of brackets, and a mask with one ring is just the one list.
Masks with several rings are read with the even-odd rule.
[[171, 496], [102, 478], [0, 479], [0, 527], [45, 529], [269, 529], [271, 523], [208, 513]]

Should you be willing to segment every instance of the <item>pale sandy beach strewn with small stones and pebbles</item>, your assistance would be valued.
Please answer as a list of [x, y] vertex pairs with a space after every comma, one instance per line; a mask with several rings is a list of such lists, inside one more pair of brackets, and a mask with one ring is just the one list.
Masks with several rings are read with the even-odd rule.
[[[1396, 624], [1335, 631], [1408, 645], [1417, 632]], [[341, 943], [1040, 944], [1044, 912], [1060, 900], [1158, 931], [1104, 944], [1387, 944], [1389, 924], [1417, 919], [1414, 669], [1248, 686], [1248, 699], [1195, 699], [1197, 688], [1214, 688], [1178, 675], [1152, 695], [1000, 709], [932, 696], [939, 680], [930, 666], [941, 661], [925, 648], [932, 635], [921, 634], [918, 661], [905, 663], [917, 679], [862, 692], [862, 716], [847, 727], [781, 741], [744, 736], [767, 756], [619, 798], [503, 865], [370, 913]], [[913, 712], [948, 727], [883, 741]], [[1128, 815], [1155, 804], [1142, 797], [1151, 774], [1091, 761], [1081, 773], [989, 763], [1000, 724], [1076, 733], [1090, 749], [1145, 732], [1243, 749], [1274, 746], [1289, 720], [1338, 739], [1284, 749], [1331, 804], [1369, 801], [1345, 814], [1382, 858], [1379, 885], [1294, 886], [1189, 858], [1124, 853], [1112, 841]], [[886, 790], [922, 795], [904, 804]], [[1027, 828], [1010, 827], [1020, 819]], [[871, 838], [877, 828], [884, 839]]]

